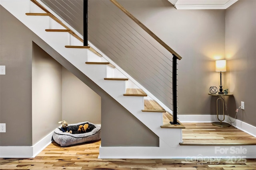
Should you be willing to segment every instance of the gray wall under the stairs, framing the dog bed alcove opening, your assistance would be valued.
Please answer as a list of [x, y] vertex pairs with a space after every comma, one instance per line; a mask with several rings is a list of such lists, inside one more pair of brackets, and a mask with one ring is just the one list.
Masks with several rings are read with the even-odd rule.
[[[54, 128], [48, 133], [41, 128], [37, 129], [37, 133], [41, 136], [32, 135], [32, 50], [39, 50], [34, 53], [39, 53], [41, 57], [52, 56], [101, 97], [101, 113], [104, 116], [101, 121], [102, 146], [113, 146], [115, 143], [119, 146], [159, 146], [159, 138], [152, 131], [2, 6], [0, 6], [0, 17], [0, 64], [6, 65], [6, 75], [0, 76], [0, 123], [6, 123], [6, 133], [0, 133], [0, 146], [32, 146], [42, 139], [44, 134], [52, 132], [59, 126], [55, 122], [52, 125]], [[40, 48], [32, 49], [32, 41], [36, 44], [34, 46]], [[58, 114], [50, 117], [52, 116], [59, 117]], [[40, 125], [47, 125], [48, 122], [42, 121]], [[12, 128], [13, 125], [18, 125], [18, 128]], [[118, 130], [116, 130], [117, 125]], [[131, 133], [131, 126], [136, 129], [132, 131], [133, 138], [128, 136]]]

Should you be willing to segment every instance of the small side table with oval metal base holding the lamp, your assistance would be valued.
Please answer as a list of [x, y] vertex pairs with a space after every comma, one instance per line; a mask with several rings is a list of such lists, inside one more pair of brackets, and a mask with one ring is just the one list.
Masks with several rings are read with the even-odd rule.
[[[219, 121], [216, 121], [216, 122], [212, 122], [212, 125], [214, 126], [218, 126], [218, 127], [229, 127], [230, 124], [229, 123], [226, 123], [226, 122], [222, 122], [225, 120], [225, 100], [222, 98], [222, 96], [234, 96], [233, 94], [231, 93], [228, 93], [228, 94], [211, 94], [211, 93], [208, 93], [209, 95], [211, 96], [218, 96], [219, 98], [217, 99], [216, 101], [216, 106], [217, 106], [217, 119]], [[219, 119], [219, 113], [218, 113], [218, 100], [221, 100], [222, 103], [223, 103], [223, 119], [220, 120]]]

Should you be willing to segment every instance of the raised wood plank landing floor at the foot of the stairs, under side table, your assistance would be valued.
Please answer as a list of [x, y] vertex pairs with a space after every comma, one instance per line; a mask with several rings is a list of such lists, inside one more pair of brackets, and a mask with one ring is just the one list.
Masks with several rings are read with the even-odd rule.
[[256, 145], [256, 138], [233, 126], [212, 123], [182, 123], [182, 145]]

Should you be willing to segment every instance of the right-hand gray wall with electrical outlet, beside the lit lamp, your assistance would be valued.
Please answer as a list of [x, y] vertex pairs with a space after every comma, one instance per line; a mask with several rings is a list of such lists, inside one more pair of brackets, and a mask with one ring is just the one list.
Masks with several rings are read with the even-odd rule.
[[[226, 84], [236, 107], [245, 102], [237, 118], [256, 126], [256, 1], [239, 0], [226, 10]], [[235, 116], [233, 110], [232, 116]]]

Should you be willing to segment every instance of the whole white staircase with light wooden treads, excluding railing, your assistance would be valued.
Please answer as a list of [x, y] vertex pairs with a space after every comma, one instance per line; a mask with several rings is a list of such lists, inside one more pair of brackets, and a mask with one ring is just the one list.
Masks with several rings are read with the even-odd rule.
[[[38, 6], [30, 0], [0, 2], [6, 10], [153, 131], [160, 140], [159, 147], [154, 147], [156, 150], [175, 149], [182, 142], [181, 128], [184, 126], [168, 123], [172, 120], [170, 115], [172, 111], [90, 42], [88, 42], [89, 47], [83, 46], [79, 33], [73, 31], [70, 25], [64, 24], [64, 21], [56, 19], [57, 15], [47, 10], [46, 6]], [[106, 147], [106, 150], [101, 148], [100, 157], [108, 157], [110, 148]], [[148, 152], [152, 149], [142, 148], [143, 152], [145, 149]]]

